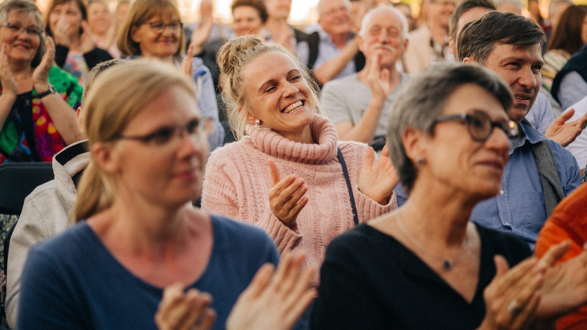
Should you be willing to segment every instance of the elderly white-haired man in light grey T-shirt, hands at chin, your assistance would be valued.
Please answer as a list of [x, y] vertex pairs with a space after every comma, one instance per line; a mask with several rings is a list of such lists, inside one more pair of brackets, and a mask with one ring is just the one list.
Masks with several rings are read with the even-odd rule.
[[392, 6], [378, 6], [363, 18], [357, 41], [365, 54], [365, 68], [326, 83], [322, 90], [322, 105], [340, 140], [383, 148], [390, 106], [409, 80], [396, 69], [407, 36], [406, 16]]

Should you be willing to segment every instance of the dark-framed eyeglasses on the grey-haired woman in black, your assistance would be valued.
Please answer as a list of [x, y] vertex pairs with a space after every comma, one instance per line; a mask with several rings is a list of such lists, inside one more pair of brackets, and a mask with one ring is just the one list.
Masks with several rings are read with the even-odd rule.
[[467, 124], [467, 131], [469, 132], [471, 139], [477, 142], [487, 141], [491, 132], [493, 132], [493, 127], [497, 127], [504, 131], [505, 135], [510, 139], [511, 148], [517, 146], [521, 139], [518, 125], [512, 122], [512, 120], [494, 122], [487, 113], [482, 111], [436, 117], [433, 125], [440, 122], [449, 122], [451, 120], [464, 120], [465, 124]]

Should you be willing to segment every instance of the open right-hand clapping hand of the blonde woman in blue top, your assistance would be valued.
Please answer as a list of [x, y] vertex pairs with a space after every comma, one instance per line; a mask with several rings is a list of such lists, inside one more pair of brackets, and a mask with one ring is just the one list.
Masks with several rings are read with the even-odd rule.
[[289, 330], [316, 297], [309, 288], [316, 270], [302, 271], [304, 254], [285, 254], [273, 272], [262, 265], [242, 292], [226, 322], [227, 330]]

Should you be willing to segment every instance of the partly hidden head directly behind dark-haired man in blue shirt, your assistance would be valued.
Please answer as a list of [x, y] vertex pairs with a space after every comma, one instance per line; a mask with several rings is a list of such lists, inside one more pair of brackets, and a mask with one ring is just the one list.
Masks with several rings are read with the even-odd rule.
[[457, 6], [448, 22], [448, 45], [450, 52], [457, 56], [457, 36], [468, 22], [481, 18], [490, 11], [496, 10], [491, 0], [465, 0]]

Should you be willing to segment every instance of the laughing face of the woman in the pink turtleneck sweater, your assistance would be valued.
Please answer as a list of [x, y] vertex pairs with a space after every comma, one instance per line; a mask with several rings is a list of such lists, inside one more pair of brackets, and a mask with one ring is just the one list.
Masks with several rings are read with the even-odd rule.
[[292, 141], [309, 132], [315, 105], [300, 68], [282, 52], [266, 52], [242, 72], [247, 122], [260, 120]]

